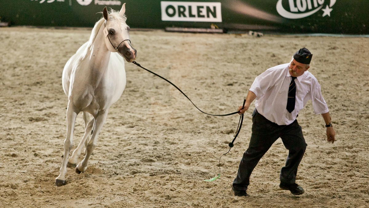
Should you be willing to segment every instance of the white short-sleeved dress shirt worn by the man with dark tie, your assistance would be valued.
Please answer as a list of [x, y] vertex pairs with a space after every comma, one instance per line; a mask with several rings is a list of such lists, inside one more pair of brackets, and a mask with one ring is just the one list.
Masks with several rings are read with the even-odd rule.
[[288, 88], [292, 80], [289, 64], [269, 68], [255, 78], [249, 90], [256, 95], [255, 107], [258, 112], [278, 125], [289, 125], [311, 100], [315, 114], [327, 113], [328, 106], [321, 94], [320, 84], [309, 71], [295, 79], [295, 109], [291, 113], [287, 111]]

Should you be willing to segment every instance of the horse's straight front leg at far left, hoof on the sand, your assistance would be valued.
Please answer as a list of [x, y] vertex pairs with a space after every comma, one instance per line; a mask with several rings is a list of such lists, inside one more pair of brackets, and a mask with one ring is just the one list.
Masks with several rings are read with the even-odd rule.
[[63, 154], [63, 161], [62, 167], [60, 168], [60, 174], [56, 177], [55, 185], [62, 186], [65, 185], [65, 174], [67, 172], [67, 162], [68, 162], [68, 155], [70, 150], [72, 149], [73, 145], [73, 131], [74, 126], [76, 123], [76, 117], [78, 113], [75, 112], [72, 106], [72, 102], [69, 101], [68, 108], [67, 108], [67, 136], [64, 140], [64, 154]]

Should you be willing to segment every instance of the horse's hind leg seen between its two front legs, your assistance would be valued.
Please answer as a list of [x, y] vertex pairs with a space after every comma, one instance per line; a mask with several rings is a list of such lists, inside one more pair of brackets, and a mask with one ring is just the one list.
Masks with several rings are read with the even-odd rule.
[[[77, 148], [73, 151], [72, 156], [68, 159], [67, 167], [76, 167], [78, 157], [81, 154], [83, 146], [86, 146], [86, 142], [88, 141], [89, 136], [91, 135], [93, 123], [95, 119], [91, 119], [88, 121], [87, 119], [90, 119], [90, 117], [87, 115], [87, 113], [83, 112], [83, 119], [85, 120], [85, 133], [83, 134], [82, 140], [78, 144]], [[87, 148], [86, 148], [87, 149]]]

